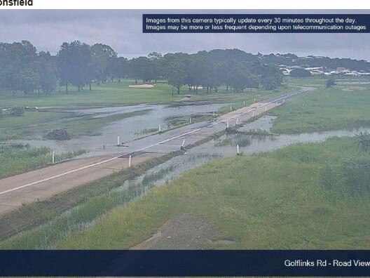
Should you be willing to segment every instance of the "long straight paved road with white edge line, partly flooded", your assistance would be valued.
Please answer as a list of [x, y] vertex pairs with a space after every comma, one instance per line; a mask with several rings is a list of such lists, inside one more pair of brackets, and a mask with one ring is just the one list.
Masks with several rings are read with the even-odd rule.
[[129, 156], [131, 165], [139, 164], [153, 157], [179, 150], [181, 145], [191, 145], [209, 135], [222, 131], [227, 125], [233, 126], [249, 120], [267, 110], [282, 105], [285, 100], [311, 88], [301, 88], [294, 93], [281, 95], [264, 102], [256, 102], [228, 114], [218, 117], [213, 122], [200, 122], [165, 133], [125, 143], [120, 152], [112, 156], [74, 159], [36, 171], [23, 173], [0, 180], [0, 215], [34, 201], [48, 199], [53, 195], [69, 190], [72, 187], [88, 183], [115, 171], [128, 168]]

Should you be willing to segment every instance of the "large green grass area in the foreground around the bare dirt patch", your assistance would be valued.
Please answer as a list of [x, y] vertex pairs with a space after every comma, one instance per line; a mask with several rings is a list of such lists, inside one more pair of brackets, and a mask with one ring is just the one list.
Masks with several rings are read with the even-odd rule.
[[169, 218], [191, 213], [217, 227], [215, 240], [235, 241], [210, 244], [212, 249], [301, 249], [303, 239], [310, 249], [369, 249], [369, 193], [322, 186], [326, 165], [353, 156], [360, 156], [354, 138], [331, 138], [217, 159], [107, 213], [56, 247], [127, 249]]

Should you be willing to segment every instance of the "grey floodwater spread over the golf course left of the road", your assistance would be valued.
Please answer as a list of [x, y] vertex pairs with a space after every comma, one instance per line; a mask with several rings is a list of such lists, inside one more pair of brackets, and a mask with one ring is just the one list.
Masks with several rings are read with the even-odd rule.
[[[190, 121], [191, 117], [196, 115], [213, 114], [221, 107], [229, 104], [197, 104], [186, 105], [132, 105], [127, 107], [103, 107], [86, 110], [65, 110], [77, 115], [90, 115], [96, 117], [108, 117], [114, 114], [125, 114], [135, 111], [149, 110], [149, 112], [111, 122], [93, 135], [83, 135], [79, 138], [73, 138], [66, 141], [55, 140], [11, 140], [11, 143], [29, 143], [35, 147], [50, 147], [55, 152], [68, 152], [71, 150], [88, 150], [83, 157], [93, 157], [96, 155], [116, 154], [118, 152], [117, 137], [120, 137], [121, 143], [130, 142], [137, 138], [142, 138], [151, 133], [144, 134], [144, 129], [159, 128], [161, 130], [170, 127], [169, 120], [174, 117], [183, 117]], [[62, 110], [63, 111], [63, 110]], [[71, 118], [73, 121], [73, 118]], [[97, 135], [98, 134], [98, 135]]]

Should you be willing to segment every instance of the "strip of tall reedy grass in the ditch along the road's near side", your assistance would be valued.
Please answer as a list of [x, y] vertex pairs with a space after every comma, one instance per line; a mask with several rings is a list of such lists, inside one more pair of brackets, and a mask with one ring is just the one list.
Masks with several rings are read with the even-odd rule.
[[71, 234], [82, 232], [92, 227], [106, 213], [117, 207], [135, 201], [142, 197], [151, 188], [156, 186], [173, 166], [160, 169], [154, 173], [144, 175], [139, 182], [116, 188], [107, 193], [100, 194], [76, 206], [61, 216], [57, 216], [48, 223], [35, 227], [27, 232], [21, 232], [0, 243], [0, 249], [50, 249], [55, 242], [66, 240]]

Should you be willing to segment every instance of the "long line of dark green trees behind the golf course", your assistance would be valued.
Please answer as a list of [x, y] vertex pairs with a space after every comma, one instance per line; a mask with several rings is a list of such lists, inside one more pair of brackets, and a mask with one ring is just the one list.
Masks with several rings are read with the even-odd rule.
[[[295, 57], [295, 56], [294, 56]], [[289, 58], [294, 58], [293, 56]], [[243, 91], [246, 88], [273, 90], [282, 84], [283, 76], [277, 56], [252, 55], [238, 49], [200, 51], [195, 54], [153, 52], [128, 60], [119, 57], [106, 44], [90, 46], [72, 41], [51, 55], [37, 52], [29, 41], [0, 44], [0, 88], [21, 91], [25, 95], [49, 94], [59, 87], [68, 93], [69, 84], [78, 91], [92, 84], [128, 78], [135, 82], [165, 79], [174, 91], [182, 86], [198, 93], [203, 87], [218, 91]]]

